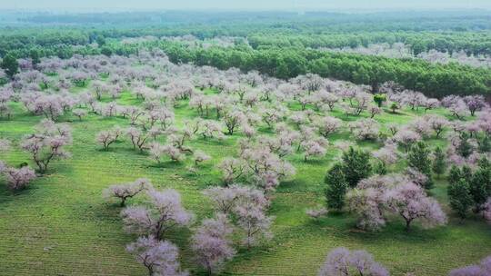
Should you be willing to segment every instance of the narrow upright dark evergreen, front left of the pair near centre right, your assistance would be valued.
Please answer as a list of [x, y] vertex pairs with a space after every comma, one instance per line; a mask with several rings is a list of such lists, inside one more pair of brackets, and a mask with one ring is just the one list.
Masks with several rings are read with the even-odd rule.
[[328, 208], [337, 210], [343, 209], [347, 191], [346, 176], [343, 173], [343, 166], [336, 163], [326, 174], [324, 182], [326, 187], [326, 201]]

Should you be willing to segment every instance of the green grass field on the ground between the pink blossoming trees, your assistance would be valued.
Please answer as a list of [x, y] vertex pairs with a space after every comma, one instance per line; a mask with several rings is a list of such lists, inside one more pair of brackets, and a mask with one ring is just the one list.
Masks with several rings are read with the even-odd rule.
[[[125, 93], [118, 103], [139, 101]], [[28, 114], [20, 104], [13, 107], [12, 120], [0, 122], [0, 136], [13, 142], [13, 150], [2, 153], [0, 160], [17, 165], [28, 161], [28, 155], [18, 150], [21, 137], [32, 132], [42, 118]], [[292, 104], [292, 108], [297, 106]], [[405, 110], [398, 114], [383, 113], [376, 119], [381, 123], [404, 124], [420, 113]], [[449, 115], [444, 110], [430, 113]], [[332, 114], [346, 120], [339, 111]], [[175, 109], [176, 124], [196, 115], [183, 102]], [[90, 114], [81, 122], [69, 116], [59, 121], [68, 122], [74, 129], [74, 143], [69, 147], [72, 158], [53, 163], [48, 173], [24, 191], [9, 192], [5, 182], [0, 182], [0, 275], [144, 275], [145, 268], [125, 252], [125, 244], [133, 242], [135, 236], [123, 231], [121, 209], [114, 202], [105, 202], [101, 192], [110, 184], [146, 177], [158, 188], [181, 192], [185, 207], [195, 212], [199, 222], [211, 215], [210, 204], [201, 191], [220, 184], [221, 174], [215, 166], [225, 156], [235, 154], [235, 143], [241, 136], [239, 132], [221, 143], [192, 141], [192, 148], [212, 156], [193, 174], [186, 169], [191, 161], [156, 166], [145, 153], [133, 151], [127, 139], [112, 145], [109, 152], [102, 151], [95, 143], [95, 133], [115, 124], [128, 126], [123, 118]], [[349, 133], [344, 130], [333, 135], [330, 142], [347, 139]], [[270, 210], [276, 217], [274, 239], [251, 251], [239, 250], [223, 274], [315, 275], [326, 253], [339, 246], [366, 249], [392, 275], [406, 272], [418, 276], [446, 275], [453, 268], [475, 263], [491, 253], [491, 227], [478, 217], [471, 216], [464, 223], [456, 219], [447, 206], [444, 179], [436, 181], [431, 193], [449, 214], [445, 227], [423, 230], [416, 224], [412, 232], [405, 232], [402, 221], [392, 220], [380, 232], [361, 232], [355, 228], [354, 217], [336, 212], [313, 221], [305, 211], [324, 202], [324, 175], [339, 153], [331, 147], [324, 159], [307, 163], [301, 154], [288, 157], [297, 172], [275, 193]], [[177, 229], [170, 240], [179, 245], [186, 269], [192, 274], [204, 273], [193, 264], [187, 246], [189, 236], [189, 230]]]

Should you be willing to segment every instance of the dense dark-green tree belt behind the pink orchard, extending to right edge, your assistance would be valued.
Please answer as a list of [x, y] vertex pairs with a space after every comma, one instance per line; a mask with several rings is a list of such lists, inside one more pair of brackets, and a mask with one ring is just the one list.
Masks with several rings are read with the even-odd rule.
[[362, 54], [326, 53], [299, 48], [251, 50], [245, 47], [189, 48], [177, 43], [159, 45], [175, 63], [192, 62], [219, 69], [230, 67], [257, 70], [282, 79], [307, 72], [367, 84], [373, 92], [388, 81], [428, 96], [489, 93], [489, 70], [458, 64], [429, 64], [420, 60], [399, 60]]

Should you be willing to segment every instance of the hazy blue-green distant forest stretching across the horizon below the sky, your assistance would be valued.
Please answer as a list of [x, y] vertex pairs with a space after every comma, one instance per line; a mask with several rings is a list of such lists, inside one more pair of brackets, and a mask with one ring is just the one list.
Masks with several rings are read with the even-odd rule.
[[[271, 17], [270, 17], [271, 16]], [[438, 20], [434, 18], [437, 17]], [[128, 18], [131, 18], [128, 20]], [[159, 18], [150, 26], [148, 18]], [[251, 19], [254, 18], [254, 19]], [[270, 19], [275, 18], [275, 19]], [[465, 50], [469, 54], [490, 54], [488, 33], [476, 28], [489, 29], [486, 15], [452, 15], [446, 13], [412, 15], [326, 15], [310, 13], [298, 17], [290, 13], [265, 14], [179, 14], [178, 12], [125, 13], [113, 15], [34, 15], [23, 18], [28, 23], [65, 23], [64, 31], [57, 27], [6, 28], [0, 34], [0, 55], [17, 50], [29, 54], [33, 48], [50, 49], [59, 45], [84, 45], [105, 38], [156, 37], [193, 34], [199, 39], [216, 36], [247, 37], [250, 44], [260, 46], [302, 47], [356, 47], [374, 43], [411, 44], [413, 51], [440, 52]], [[101, 23], [115, 25], [105, 27]], [[126, 25], [133, 22], [133, 25]], [[233, 24], [231, 24], [233, 22]], [[247, 22], [247, 23], [244, 23]], [[255, 24], [250, 24], [254, 22]], [[295, 22], [295, 25], [292, 25]], [[312, 24], [315, 22], [316, 24]], [[457, 22], [457, 23], [456, 23]], [[205, 23], [205, 24], [202, 24]], [[93, 27], [66, 25], [97, 25]], [[138, 26], [135, 27], [135, 24]], [[446, 30], [445, 33], [441, 32]], [[469, 30], [468, 32], [464, 32]], [[437, 32], [436, 32], [437, 31]], [[454, 31], [454, 32], [452, 32]], [[472, 32], [470, 32], [472, 31]], [[25, 57], [26, 55], [23, 55]], [[44, 55], [43, 55], [44, 56]]]

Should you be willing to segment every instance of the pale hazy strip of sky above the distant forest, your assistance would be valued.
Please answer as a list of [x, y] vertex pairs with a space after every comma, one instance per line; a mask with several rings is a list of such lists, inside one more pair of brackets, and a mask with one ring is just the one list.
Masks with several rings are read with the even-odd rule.
[[0, 9], [491, 9], [491, 0], [0, 0]]

